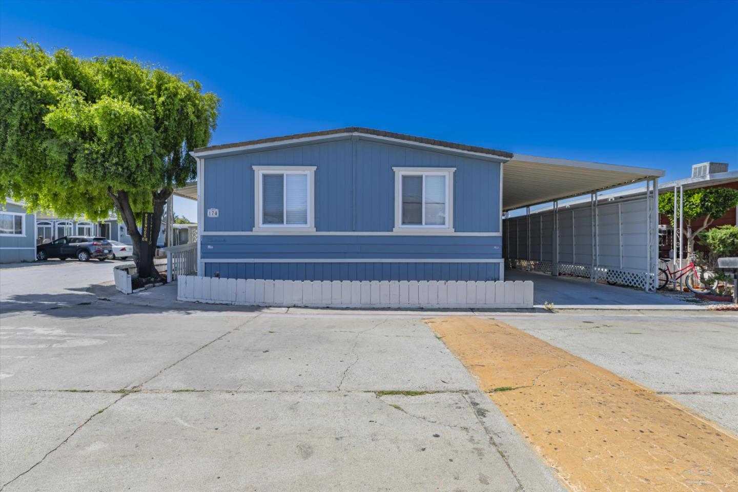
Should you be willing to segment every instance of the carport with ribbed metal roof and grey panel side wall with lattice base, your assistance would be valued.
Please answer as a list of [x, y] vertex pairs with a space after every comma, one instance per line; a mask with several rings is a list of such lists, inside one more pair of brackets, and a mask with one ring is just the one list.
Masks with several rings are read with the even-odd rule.
[[[506, 266], [654, 290], [660, 176], [662, 170], [645, 167], [514, 155], [503, 164]], [[646, 182], [646, 193], [637, 203], [624, 209], [599, 204], [600, 191], [639, 181]], [[575, 201], [559, 210], [560, 200], [581, 195], [590, 195], [589, 204]], [[531, 215], [532, 206], [546, 203], [553, 207]], [[522, 208], [525, 215], [508, 213]]]

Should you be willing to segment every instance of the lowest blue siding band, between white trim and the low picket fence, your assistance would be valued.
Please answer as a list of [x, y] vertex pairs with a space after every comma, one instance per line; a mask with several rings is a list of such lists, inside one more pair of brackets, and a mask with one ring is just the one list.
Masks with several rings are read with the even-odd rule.
[[500, 263], [205, 263], [205, 277], [263, 280], [499, 280]]

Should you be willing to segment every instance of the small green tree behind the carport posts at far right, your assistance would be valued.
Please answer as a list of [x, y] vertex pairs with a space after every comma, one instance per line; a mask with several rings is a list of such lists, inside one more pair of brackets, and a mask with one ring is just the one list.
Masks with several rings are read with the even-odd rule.
[[[723, 217], [728, 210], [738, 205], [738, 190], [730, 188], [697, 188], [684, 190], [684, 221], [701, 220], [702, 224], [696, 229], [685, 232], [687, 252], [694, 251], [694, 239], [703, 230], [707, 229], [715, 219]], [[677, 207], [679, 204], [677, 204]], [[674, 221], [674, 192], [659, 193], [658, 211], [668, 215], [669, 221]], [[672, 224], [675, 226], [675, 224]]]

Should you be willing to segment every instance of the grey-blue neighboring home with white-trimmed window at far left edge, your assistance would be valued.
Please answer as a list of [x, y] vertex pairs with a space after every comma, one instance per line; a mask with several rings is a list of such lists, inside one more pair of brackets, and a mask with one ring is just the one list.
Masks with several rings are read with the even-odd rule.
[[34, 226], [35, 215], [24, 204], [8, 200], [0, 205], [0, 263], [35, 260]]

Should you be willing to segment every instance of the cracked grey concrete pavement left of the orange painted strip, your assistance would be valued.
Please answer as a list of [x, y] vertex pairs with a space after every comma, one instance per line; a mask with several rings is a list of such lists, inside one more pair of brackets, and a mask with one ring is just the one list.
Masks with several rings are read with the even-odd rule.
[[97, 301], [1, 325], [3, 490], [561, 490], [420, 319]]

